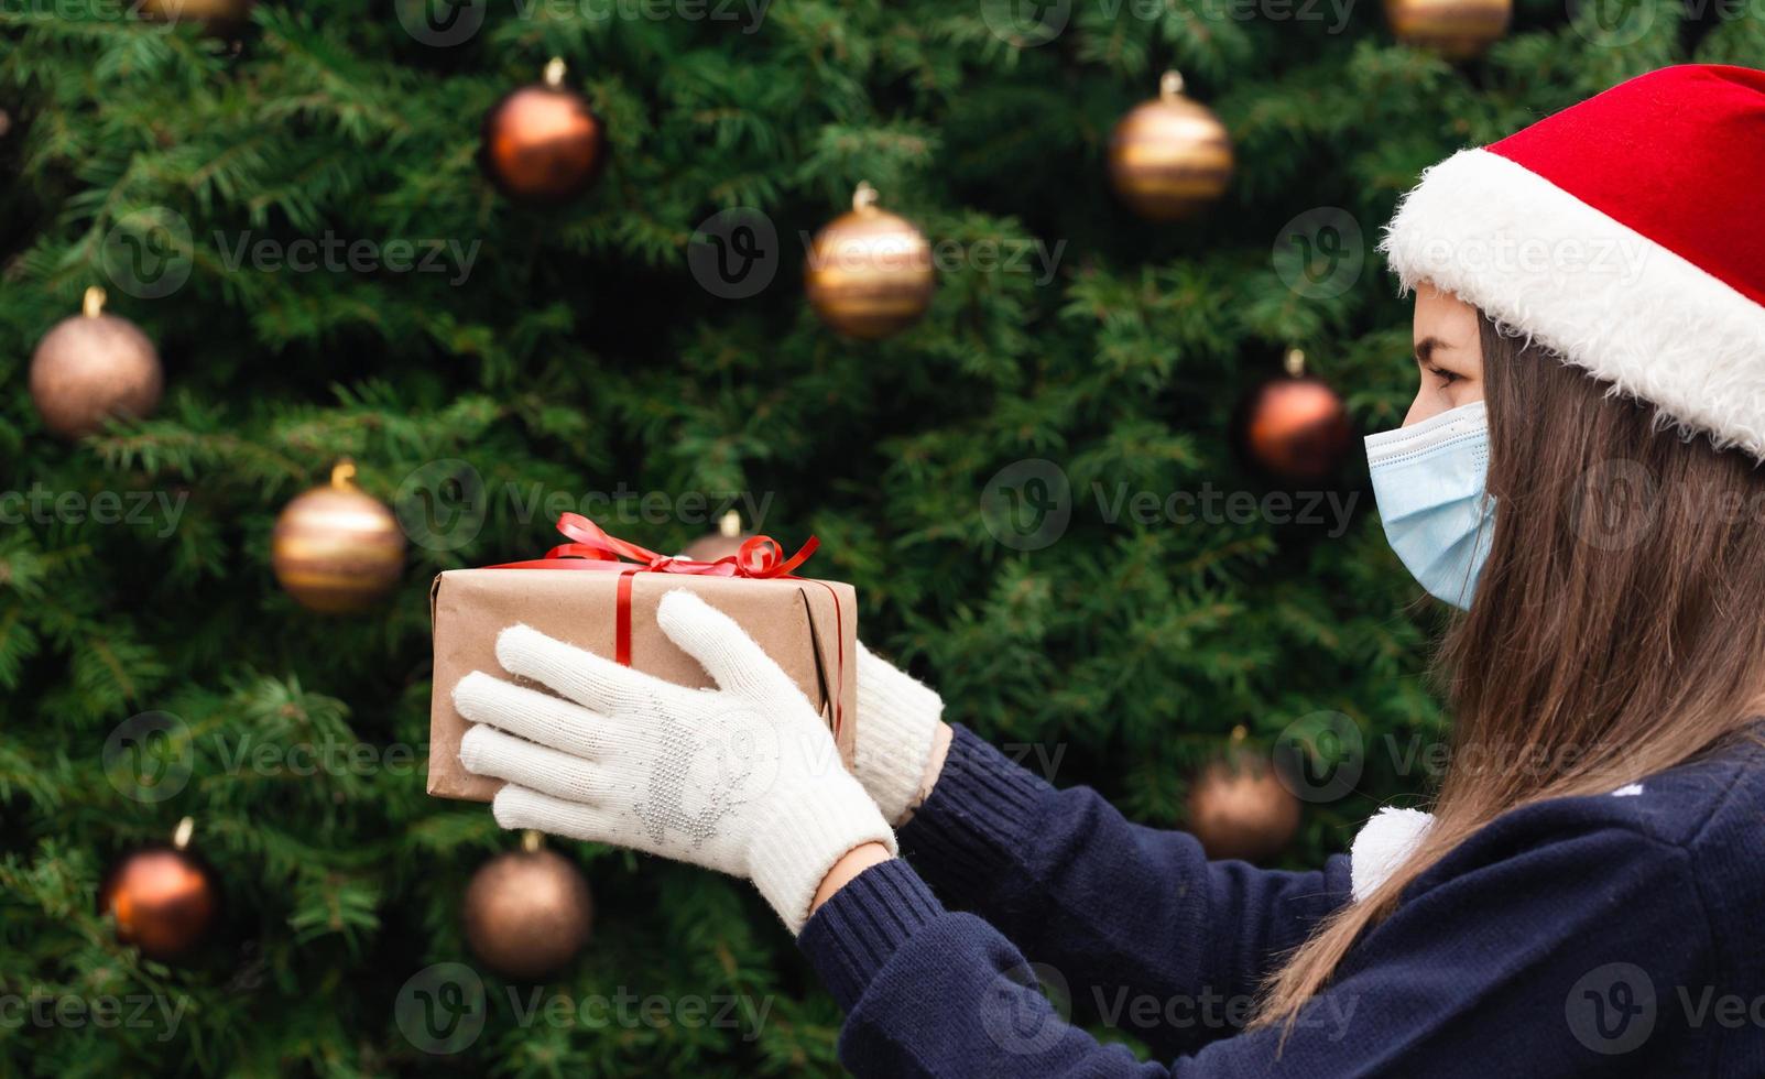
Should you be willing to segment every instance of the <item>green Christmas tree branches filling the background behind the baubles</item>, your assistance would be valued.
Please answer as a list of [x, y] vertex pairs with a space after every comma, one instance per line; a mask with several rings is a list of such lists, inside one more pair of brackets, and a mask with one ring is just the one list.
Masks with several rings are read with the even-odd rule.
[[[517, 839], [424, 791], [429, 585], [538, 556], [563, 510], [658, 551], [731, 509], [817, 535], [805, 572], [856, 585], [950, 719], [1144, 823], [1287, 752], [1303, 816], [1269, 860], [1315, 865], [1438, 770], [1438, 611], [1352, 445], [1271, 473], [1244, 401], [1303, 350], [1394, 427], [1408, 309], [1373, 244], [1421, 168], [1664, 64], [1765, 64], [1756, 16], [1668, 0], [1528, 0], [1456, 60], [1285, 0], [94, 0], [0, 28], [0, 1072], [41, 1075], [837, 1072], [838, 1010], [741, 883], [552, 842], [586, 947], [538, 982], [468, 947], [468, 883]], [[604, 168], [528, 200], [480, 122], [552, 57]], [[1110, 138], [1167, 69], [1234, 168], [1149, 223]], [[935, 265], [877, 341], [803, 291], [861, 182]], [[32, 355], [92, 286], [164, 396], [64, 438], [78, 387]], [[344, 459], [404, 562], [321, 615], [272, 533]], [[99, 892], [184, 818], [217, 915], [168, 962]]]

